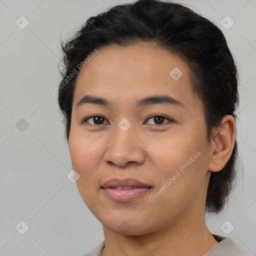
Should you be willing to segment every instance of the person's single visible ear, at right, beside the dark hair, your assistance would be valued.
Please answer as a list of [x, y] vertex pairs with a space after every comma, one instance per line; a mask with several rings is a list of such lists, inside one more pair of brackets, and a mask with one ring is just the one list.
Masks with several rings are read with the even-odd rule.
[[230, 158], [236, 136], [235, 119], [232, 115], [225, 115], [220, 127], [214, 128], [211, 138], [211, 156], [208, 170], [220, 171]]

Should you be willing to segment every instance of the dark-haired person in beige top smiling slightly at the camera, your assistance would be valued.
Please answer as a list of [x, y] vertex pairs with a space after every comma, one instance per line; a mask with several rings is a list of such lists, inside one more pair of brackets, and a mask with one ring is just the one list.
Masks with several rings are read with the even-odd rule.
[[105, 238], [85, 255], [246, 255], [205, 224], [237, 157], [238, 77], [220, 29], [138, 0], [90, 17], [62, 49], [72, 167]]

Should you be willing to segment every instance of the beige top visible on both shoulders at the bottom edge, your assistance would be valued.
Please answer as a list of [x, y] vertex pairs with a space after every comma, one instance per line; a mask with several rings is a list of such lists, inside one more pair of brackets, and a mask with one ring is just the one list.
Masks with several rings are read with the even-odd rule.
[[[248, 254], [241, 251], [231, 238], [217, 234], [212, 235], [218, 241], [218, 244], [212, 247], [203, 256], [249, 256]], [[101, 256], [104, 246], [105, 240], [99, 243], [94, 249], [81, 256]]]

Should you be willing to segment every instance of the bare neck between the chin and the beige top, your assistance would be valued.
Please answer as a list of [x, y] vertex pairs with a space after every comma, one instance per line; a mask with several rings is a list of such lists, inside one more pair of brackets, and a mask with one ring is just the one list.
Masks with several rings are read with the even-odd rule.
[[123, 235], [103, 225], [105, 247], [102, 256], [202, 256], [218, 242], [201, 217], [189, 216], [187, 221], [171, 223], [151, 233]]

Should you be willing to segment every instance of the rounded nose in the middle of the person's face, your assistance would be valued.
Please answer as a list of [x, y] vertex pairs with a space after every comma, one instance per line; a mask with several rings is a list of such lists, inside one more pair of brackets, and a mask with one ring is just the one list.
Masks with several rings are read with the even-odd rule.
[[145, 160], [145, 147], [143, 138], [135, 132], [132, 125], [126, 131], [117, 126], [115, 136], [107, 143], [103, 159], [106, 163], [119, 167], [138, 165]]

